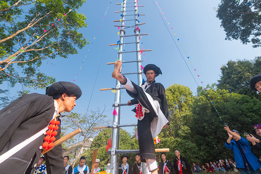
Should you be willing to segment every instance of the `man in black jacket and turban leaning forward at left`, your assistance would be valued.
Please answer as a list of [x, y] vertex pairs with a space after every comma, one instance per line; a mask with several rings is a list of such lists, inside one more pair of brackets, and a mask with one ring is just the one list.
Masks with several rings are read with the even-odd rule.
[[[0, 110], [1, 173], [33, 173], [45, 148], [43, 143], [47, 149], [53, 145], [44, 140], [45, 134], [56, 134], [52, 140], [60, 139], [59, 113], [70, 112], [82, 92], [73, 83], [56, 82], [46, 88], [46, 94], [23, 95]], [[56, 126], [50, 125], [51, 121]], [[49, 126], [54, 127], [50, 130]], [[48, 174], [65, 173], [61, 145], [45, 153], [45, 164]]]

